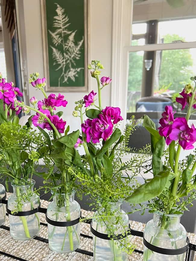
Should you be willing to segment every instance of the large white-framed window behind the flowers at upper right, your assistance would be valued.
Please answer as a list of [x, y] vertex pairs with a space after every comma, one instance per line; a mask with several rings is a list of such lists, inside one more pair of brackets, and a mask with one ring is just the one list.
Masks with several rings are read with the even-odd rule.
[[[172, 6], [167, 0], [134, 1], [127, 112], [145, 111], [138, 101], [147, 96], [172, 101], [196, 74], [196, 2], [180, 2]], [[145, 60], [152, 60], [149, 70]]]

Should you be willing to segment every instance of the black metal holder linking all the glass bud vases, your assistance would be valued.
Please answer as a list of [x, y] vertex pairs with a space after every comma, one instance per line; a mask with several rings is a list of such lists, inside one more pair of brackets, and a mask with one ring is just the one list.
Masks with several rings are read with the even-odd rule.
[[[40, 213], [44, 213], [46, 215], [46, 222], [47, 223], [49, 223], [49, 224], [51, 224], [53, 226], [60, 226], [60, 227], [68, 227], [68, 226], [76, 225], [77, 223], [80, 222], [80, 219], [84, 219], [83, 217], [79, 217], [79, 218], [77, 218], [75, 220], [66, 221], [66, 222], [55, 221], [55, 220], [49, 219], [49, 217], [46, 214], [47, 209], [43, 208], [43, 207], [40, 207], [40, 206], [35, 208], [35, 209], [33, 209], [33, 210], [21, 211], [21, 212], [18, 212], [17, 214], [12, 214], [11, 210], [8, 209], [8, 205], [7, 205], [8, 201], [5, 200], [5, 198], [6, 198], [6, 196], [3, 197], [2, 199], [0, 199], [0, 203], [6, 204], [6, 211], [7, 211], [6, 215], [9, 214], [9, 215], [13, 215], [13, 216], [29, 216], [29, 215], [35, 214], [37, 212], [40, 212]], [[96, 231], [92, 227], [92, 219], [85, 219], [85, 220], [82, 220], [82, 222], [84, 222], [86, 224], [89, 224], [90, 225], [90, 231], [92, 232], [93, 235], [95, 235], [98, 238], [105, 239], [105, 240], [112, 240], [112, 239], [113, 240], [119, 240], [119, 239], [125, 238], [128, 235], [138, 236], [138, 237], [142, 237], [143, 238], [144, 245], [149, 250], [151, 250], [153, 252], [164, 254], [164, 255], [180, 255], [180, 254], [186, 253], [185, 261], [193, 261], [194, 260], [194, 253], [196, 251], [196, 245], [195, 244], [191, 244], [189, 242], [188, 238], [187, 238], [187, 241], [186, 241], [187, 244], [186, 244], [185, 247], [182, 247], [182, 248], [179, 248], [179, 249], [165, 249], [165, 248], [161, 248], [161, 247], [156, 247], [156, 246], [150, 244], [149, 242], [147, 242], [145, 240], [145, 238], [143, 237], [144, 233], [142, 231], [137, 231], [137, 230], [131, 229], [130, 225], [129, 225], [129, 229], [128, 229], [128, 231], [127, 231], [127, 233], [125, 235], [124, 234], [123, 235], [119, 234], [119, 235], [109, 236], [107, 234], [103, 234], [103, 233], [100, 233], [100, 232]], [[40, 222], [40, 225], [47, 226], [47, 224], [43, 223], [43, 222]], [[8, 231], [10, 230], [10, 228], [8, 226], [5, 226], [5, 225], [2, 225], [0, 228], [3, 228], [3, 229], [8, 230]], [[84, 235], [84, 234], [80, 234], [80, 235], [81, 235], [81, 237], [93, 239], [93, 237], [91, 237], [89, 235]], [[45, 242], [45, 243], [48, 243], [48, 239], [41, 238], [39, 236], [36, 236], [33, 239], [38, 240], [38, 241], [42, 241], [42, 242]], [[90, 252], [90, 251], [87, 251], [87, 250], [83, 250], [83, 249], [80, 249], [80, 248], [75, 250], [75, 252], [78, 252], [78, 253], [81, 253], [81, 254], [84, 254], [84, 255], [87, 255], [87, 256], [93, 256], [93, 252]], [[143, 254], [143, 251], [137, 250], [137, 249], [135, 249], [134, 252]], [[8, 254], [8, 253], [2, 252], [2, 251], [0, 251], [0, 254], [2, 254], [4, 256], [12, 257], [12, 258], [17, 259], [17, 260], [28, 261], [26, 259], [22, 259], [20, 257], [13, 256], [11, 254]]]

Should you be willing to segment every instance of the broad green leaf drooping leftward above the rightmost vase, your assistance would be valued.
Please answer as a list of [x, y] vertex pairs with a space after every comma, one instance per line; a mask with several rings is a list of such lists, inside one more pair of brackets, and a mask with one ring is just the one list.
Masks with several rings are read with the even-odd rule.
[[131, 204], [139, 204], [159, 196], [168, 182], [169, 174], [169, 171], [160, 172], [150, 182], [142, 184], [125, 200]]

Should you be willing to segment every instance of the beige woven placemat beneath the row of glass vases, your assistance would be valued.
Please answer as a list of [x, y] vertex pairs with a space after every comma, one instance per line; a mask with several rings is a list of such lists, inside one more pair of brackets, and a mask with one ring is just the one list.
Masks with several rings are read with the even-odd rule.
[[[47, 208], [48, 201], [40, 200], [41, 207]], [[81, 210], [82, 216], [90, 217], [93, 216], [93, 212]], [[46, 223], [45, 214], [40, 213], [40, 222]], [[9, 218], [6, 216], [6, 226], [9, 226]], [[136, 221], [130, 221], [132, 229], [138, 231], [144, 231], [145, 224]], [[81, 223], [81, 233], [92, 236], [90, 232], [90, 225]], [[41, 225], [40, 237], [48, 238], [47, 227]], [[130, 241], [134, 243], [136, 249], [143, 250], [142, 238], [136, 236], [129, 236]], [[196, 235], [188, 233], [190, 242], [196, 243]], [[80, 237], [80, 249], [87, 251], [93, 251], [93, 240], [90, 238]], [[48, 244], [42, 241], [31, 239], [29, 241], [17, 241], [11, 238], [9, 231], [0, 228], [0, 251], [17, 256], [29, 261], [88, 261], [93, 260], [93, 257], [87, 256], [81, 253], [73, 252], [69, 254], [58, 254], [49, 249]], [[17, 260], [0, 254], [0, 260]], [[128, 261], [142, 261], [143, 255], [140, 253], [133, 252], [128, 257]], [[195, 257], [196, 261], [196, 257]]]

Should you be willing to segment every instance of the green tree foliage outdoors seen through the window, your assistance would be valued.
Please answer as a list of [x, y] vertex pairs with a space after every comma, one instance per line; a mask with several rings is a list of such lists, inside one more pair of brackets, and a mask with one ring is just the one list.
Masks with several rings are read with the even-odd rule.
[[[185, 41], [178, 35], [167, 34], [164, 36], [164, 43], [171, 43], [176, 39]], [[137, 44], [137, 41], [134, 41], [134, 45]], [[128, 91], [141, 91], [143, 62], [144, 56], [141, 52], [129, 54]], [[169, 85], [171, 82], [169, 89], [180, 92], [184, 83], [190, 82], [193, 75], [192, 66], [193, 59], [189, 49], [162, 51], [159, 86], [155, 86], [155, 89], [161, 89], [163, 85]]]

